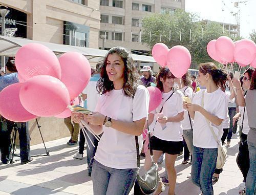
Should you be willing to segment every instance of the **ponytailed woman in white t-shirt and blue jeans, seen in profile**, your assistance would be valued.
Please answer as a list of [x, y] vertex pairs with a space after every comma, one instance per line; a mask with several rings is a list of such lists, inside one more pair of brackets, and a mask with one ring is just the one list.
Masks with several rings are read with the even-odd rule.
[[211, 128], [220, 142], [223, 134], [222, 121], [227, 116], [228, 107], [226, 94], [220, 88], [223, 88], [226, 79], [227, 74], [217, 69], [214, 63], [201, 63], [198, 80], [206, 90], [197, 92], [193, 103], [183, 104], [194, 118], [191, 178], [204, 195], [214, 194], [212, 175], [216, 168], [218, 143]]

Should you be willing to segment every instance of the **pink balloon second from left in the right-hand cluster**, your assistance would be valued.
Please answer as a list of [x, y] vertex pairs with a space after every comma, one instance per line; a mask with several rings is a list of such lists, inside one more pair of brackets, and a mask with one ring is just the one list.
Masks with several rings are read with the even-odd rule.
[[221, 36], [217, 39], [216, 54], [219, 56], [224, 64], [234, 61], [234, 42], [227, 36]]

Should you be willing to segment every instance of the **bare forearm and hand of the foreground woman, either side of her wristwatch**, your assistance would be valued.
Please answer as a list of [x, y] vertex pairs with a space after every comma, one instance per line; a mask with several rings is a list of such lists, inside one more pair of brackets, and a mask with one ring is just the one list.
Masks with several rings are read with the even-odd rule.
[[[102, 125], [103, 121], [106, 116], [95, 112], [92, 115], [84, 115], [83, 118], [93, 125]], [[146, 122], [146, 117], [142, 118], [137, 121], [133, 122], [124, 122], [124, 121], [118, 121], [115, 119], [111, 120], [112, 122], [112, 128], [116, 129], [119, 132], [134, 135], [134, 136], [140, 136], [144, 130], [144, 124]]]

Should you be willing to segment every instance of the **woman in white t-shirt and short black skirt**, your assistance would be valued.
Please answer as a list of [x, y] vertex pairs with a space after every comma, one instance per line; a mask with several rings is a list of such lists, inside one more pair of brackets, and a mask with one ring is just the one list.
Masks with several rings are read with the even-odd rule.
[[[153, 131], [151, 144], [153, 149], [153, 160], [156, 163], [162, 153], [165, 153], [165, 167], [169, 180], [168, 194], [175, 194], [176, 170], [175, 160], [183, 149], [182, 126], [184, 109], [182, 107], [182, 93], [174, 91], [175, 76], [168, 68], [162, 68], [157, 78], [157, 88], [162, 92], [162, 102], [157, 109], [150, 113], [150, 129]], [[162, 111], [161, 111], [162, 110]], [[150, 151], [147, 151], [145, 169], [151, 166]], [[155, 194], [161, 192], [159, 185]]]

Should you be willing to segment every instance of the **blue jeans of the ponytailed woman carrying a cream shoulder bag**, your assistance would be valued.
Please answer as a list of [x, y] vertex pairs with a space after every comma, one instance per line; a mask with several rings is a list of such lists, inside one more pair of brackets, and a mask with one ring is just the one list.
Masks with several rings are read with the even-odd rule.
[[194, 146], [191, 179], [200, 187], [204, 195], [213, 195], [212, 176], [216, 168], [218, 148], [201, 148]]

